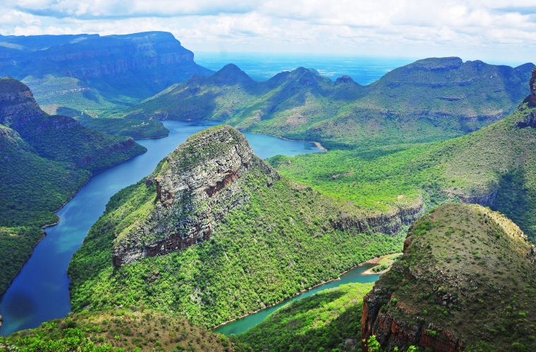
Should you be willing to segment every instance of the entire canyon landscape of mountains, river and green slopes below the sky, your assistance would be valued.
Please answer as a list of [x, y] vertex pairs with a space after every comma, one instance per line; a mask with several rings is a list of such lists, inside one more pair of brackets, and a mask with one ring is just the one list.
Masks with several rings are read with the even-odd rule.
[[531, 351], [532, 63], [193, 57], [0, 36], [0, 351]]

